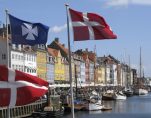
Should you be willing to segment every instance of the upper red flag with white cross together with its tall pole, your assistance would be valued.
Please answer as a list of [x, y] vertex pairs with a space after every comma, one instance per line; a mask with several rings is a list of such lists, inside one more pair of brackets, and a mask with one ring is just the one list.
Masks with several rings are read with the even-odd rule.
[[68, 53], [69, 53], [69, 78], [70, 78], [70, 92], [72, 103], [72, 118], [74, 118], [74, 97], [72, 87], [72, 68], [71, 68], [71, 49], [70, 49], [70, 31], [69, 31], [69, 16], [71, 19], [74, 41], [84, 40], [104, 40], [116, 39], [116, 34], [113, 33], [110, 26], [105, 19], [95, 13], [83, 13], [75, 11], [66, 6], [67, 14], [67, 34], [68, 34]]

